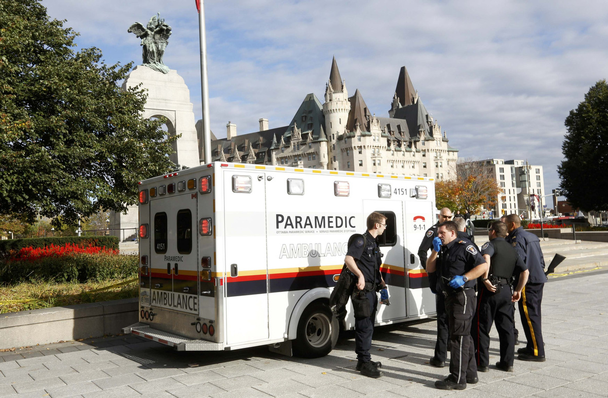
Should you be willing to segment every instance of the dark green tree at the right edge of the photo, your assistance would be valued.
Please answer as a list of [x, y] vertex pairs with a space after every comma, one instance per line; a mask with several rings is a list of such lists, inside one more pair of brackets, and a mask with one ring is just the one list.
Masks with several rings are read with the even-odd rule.
[[565, 120], [567, 133], [558, 166], [562, 194], [573, 208], [608, 208], [608, 85], [598, 81]]

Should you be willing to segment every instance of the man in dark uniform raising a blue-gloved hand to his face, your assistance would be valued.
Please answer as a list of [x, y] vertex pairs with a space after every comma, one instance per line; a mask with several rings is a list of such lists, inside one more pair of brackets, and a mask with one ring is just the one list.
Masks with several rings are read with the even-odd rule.
[[445, 297], [451, 343], [450, 375], [437, 380], [439, 389], [465, 389], [477, 383], [477, 364], [471, 339], [471, 320], [475, 312], [475, 278], [487, 272], [488, 264], [468, 239], [459, 239], [456, 224], [443, 222], [427, 261], [427, 272], [437, 272], [438, 285]]

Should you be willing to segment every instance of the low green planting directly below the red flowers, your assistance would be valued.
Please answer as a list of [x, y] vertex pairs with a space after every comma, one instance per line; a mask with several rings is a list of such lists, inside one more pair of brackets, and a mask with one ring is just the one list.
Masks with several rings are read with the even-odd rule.
[[100, 282], [137, 276], [136, 255], [86, 254], [46, 257], [36, 261], [0, 260], [0, 284], [24, 281]]

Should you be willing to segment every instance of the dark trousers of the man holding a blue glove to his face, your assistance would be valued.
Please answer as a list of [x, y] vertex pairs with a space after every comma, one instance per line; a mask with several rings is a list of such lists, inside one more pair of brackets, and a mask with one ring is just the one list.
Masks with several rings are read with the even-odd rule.
[[450, 375], [457, 383], [477, 377], [471, 323], [475, 314], [475, 290], [460, 290], [446, 297], [450, 333]]

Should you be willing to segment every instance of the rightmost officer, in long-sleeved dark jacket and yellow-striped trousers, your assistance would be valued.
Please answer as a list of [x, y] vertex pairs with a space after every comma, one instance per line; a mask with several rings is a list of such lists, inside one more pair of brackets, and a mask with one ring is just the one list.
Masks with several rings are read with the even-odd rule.
[[509, 235], [506, 241], [517, 250], [517, 254], [526, 263], [530, 276], [522, 290], [519, 301], [519, 316], [522, 329], [526, 335], [527, 345], [517, 349], [517, 359], [523, 361], [545, 362], [545, 345], [542, 341], [541, 304], [542, 290], [547, 281], [545, 275], [545, 258], [542, 255], [541, 241], [533, 233], [524, 231], [522, 221], [517, 214], [506, 216], [506, 228]]

